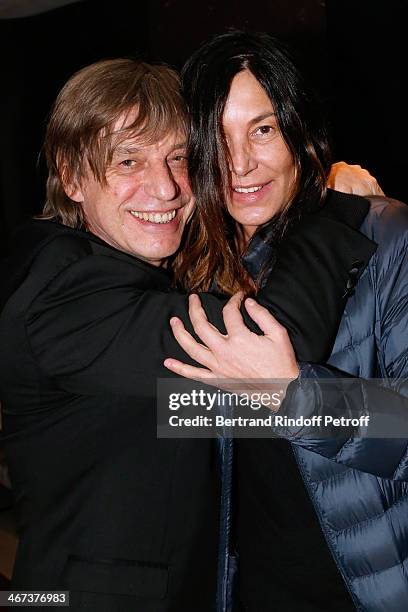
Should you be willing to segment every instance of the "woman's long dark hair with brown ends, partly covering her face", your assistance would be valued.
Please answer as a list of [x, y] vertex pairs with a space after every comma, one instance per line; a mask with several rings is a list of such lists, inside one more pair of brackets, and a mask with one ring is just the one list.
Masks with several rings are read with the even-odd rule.
[[198, 214], [174, 271], [192, 290], [206, 291], [214, 283], [226, 294], [250, 288], [240, 262], [239, 227], [226, 207], [230, 171], [222, 129], [231, 82], [242, 70], [249, 70], [269, 96], [296, 168], [294, 193], [268, 222], [274, 240], [281, 240], [290, 221], [318, 206], [326, 193], [331, 155], [321, 106], [286, 47], [267, 34], [237, 30], [204, 43], [182, 71], [190, 112], [189, 173]]

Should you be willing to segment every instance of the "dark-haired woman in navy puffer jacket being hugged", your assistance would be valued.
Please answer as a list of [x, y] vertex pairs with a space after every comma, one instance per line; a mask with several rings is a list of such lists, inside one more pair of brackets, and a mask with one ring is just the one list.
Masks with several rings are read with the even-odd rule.
[[[321, 409], [326, 399], [319, 379], [344, 372], [360, 377], [352, 406], [357, 412], [375, 410], [379, 398], [390, 411], [401, 408], [408, 395], [408, 209], [385, 198], [327, 190], [330, 147], [320, 107], [275, 39], [218, 36], [187, 62], [182, 80], [191, 113], [190, 178], [202, 225], [193, 220], [189, 257], [184, 253], [189, 267], [176, 261], [176, 274], [194, 290], [215, 285], [227, 294], [243, 289], [256, 295], [299, 224], [315, 228], [310, 254], [327, 239], [319, 235], [319, 219], [343, 223], [359, 241], [345, 279], [349, 300], [327, 363], [298, 364], [290, 401], [299, 414], [310, 406], [310, 395], [302, 396], [302, 380], [310, 378], [312, 401]], [[339, 251], [348, 248], [344, 236], [335, 244]], [[316, 258], [310, 282], [324, 282], [328, 263]], [[202, 344], [180, 321], [172, 326], [204, 367], [172, 359], [166, 365], [210, 383], [226, 376], [293, 379], [290, 342], [275, 352], [271, 342], [268, 350], [273, 318], [249, 304], [265, 332], [261, 346], [242, 331], [246, 348], [255, 347], [251, 363], [193, 300], [192, 322]], [[379, 376], [394, 390], [376, 395], [366, 379]], [[338, 407], [346, 410], [350, 401], [339, 391]], [[407, 440], [346, 432], [338, 439], [292, 442], [236, 445], [233, 549], [240, 605], [250, 612], [402, 612], [408, 606]]]

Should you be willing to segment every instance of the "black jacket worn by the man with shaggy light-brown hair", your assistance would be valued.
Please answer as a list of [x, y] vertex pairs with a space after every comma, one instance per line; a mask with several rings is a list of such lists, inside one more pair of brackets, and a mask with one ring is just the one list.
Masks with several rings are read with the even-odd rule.
[[[333, 253], [316, 285], [312, 262], [298, 255], [321, 231], [310, 227], [285, 242], [259, 298], [289, 328], [298, 354], [319, 360], [331, 350], [353, 255]], [[329, 229], [313, 258], [320, 248], [327, 255]], [[343, 232], [368, 260], [357, 232]], [[212, 610], [214, 441], [156, 437], [156, 380], [170, 375], [163, 359], [187, 359], [168, 324], [177, 314], [189, 326], [186, 296], [165, 271], [92, 235], [37, 221], [27, 249], [22, 241], [0, 318], [20, 532], [13, 586], [69, 589], [73, 610]], [[222, 327], [225, 300], [202, 298]]]

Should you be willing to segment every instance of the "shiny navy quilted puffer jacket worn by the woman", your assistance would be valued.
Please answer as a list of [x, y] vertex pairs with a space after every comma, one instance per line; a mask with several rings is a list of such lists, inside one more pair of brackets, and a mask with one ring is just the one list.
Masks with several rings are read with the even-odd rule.
[[[394, 385], [384, 389], [382, 400], [391, 410], [406, 406], [408, 419], [408, 207], [370, 198], [360, 231], [378, 248], [347, 302], [328, 363], [361, 377], [356, 411], [373, 409], [365, 405], [372, 396], [364, 379], [381, 377]], [[330, 367], [302, 365], [293, 391], [299, 414], [311, 401], [313, 385], [304, 380], [328, 376], [336, 377]], [[316, 382], [316, 406], [324, 401], [318, 387]], [[408, 440], [298, 439], [293, 449], [356, 609], [408, 610]], [[227, 563], [223, 569], [226, 587]]]

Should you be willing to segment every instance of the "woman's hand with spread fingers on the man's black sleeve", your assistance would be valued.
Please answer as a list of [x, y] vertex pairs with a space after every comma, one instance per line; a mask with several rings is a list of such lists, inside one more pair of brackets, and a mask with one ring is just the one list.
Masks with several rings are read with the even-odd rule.
[[[299, 367], [286, 329], [255, 300], [245, 300], [250, 317], [263, 332], [257, 335], [245, 325], [240, 312], [242, 294], [235, 294], [224, 306], [223, 318], [227, 334], [208, 322], [197, 295], [189, 298], [189, 315], [197, 342], [182, 321], [170, 321], [173, 334], [184, 351], [202, 368], [166, 359], [164, 365], [185, 378], [205, 380], [208, 384], [220, 378], [276, 379], [288, 382], [297, 378]], [[214, 384], [216, 384], [214, 382]]]

